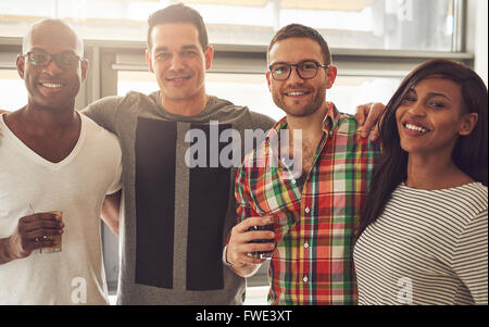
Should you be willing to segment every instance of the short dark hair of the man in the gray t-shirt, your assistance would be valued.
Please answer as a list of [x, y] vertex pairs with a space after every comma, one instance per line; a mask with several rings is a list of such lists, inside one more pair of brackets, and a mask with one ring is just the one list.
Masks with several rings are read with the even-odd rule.
[[148, 49], [151, 49], [151, 32], [155, 25], [168, 24], [168, 23], [190, 23], [197, 27], [199, 32], [199, 42], [202, 46], [202, 50], [205, 51], [209, 46], [208, 32], [205, 24], [199, 12], [190, 7], [181, 3], [172, 4], [165, 9], [153, 12], [148, 17]]

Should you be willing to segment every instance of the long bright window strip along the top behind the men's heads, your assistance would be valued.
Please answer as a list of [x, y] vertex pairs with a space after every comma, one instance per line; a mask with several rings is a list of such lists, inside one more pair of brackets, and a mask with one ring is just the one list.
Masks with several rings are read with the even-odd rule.
[[61, 17], [86, 39], [145, 40], [151, 12], [184, 2], [213, 43], [268, 45], [290, 23], [317, 28], [335, 48], [459, 51], [456, 0], [16, 0], [2, 4], [2, 36], [40, 17]]

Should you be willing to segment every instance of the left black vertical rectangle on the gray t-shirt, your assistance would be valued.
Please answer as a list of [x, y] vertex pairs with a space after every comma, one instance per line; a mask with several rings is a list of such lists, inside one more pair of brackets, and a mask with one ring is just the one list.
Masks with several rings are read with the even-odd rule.
[[136, 284], [173, 288], [174, 122], [138, 118], [136, 130]]

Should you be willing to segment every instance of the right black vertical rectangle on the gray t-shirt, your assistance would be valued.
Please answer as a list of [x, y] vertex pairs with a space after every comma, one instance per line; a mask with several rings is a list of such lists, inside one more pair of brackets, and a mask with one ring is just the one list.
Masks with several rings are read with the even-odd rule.
[[[218, 153], [230, 141], [218, 142], [216, 136], [222, 130], [231, 128], [231, 125], [192, 124], [191, 128], [201, 129], [202, 136], [205, 135], [206, 165], [190, 169], [187, 289], [223, 289], [223, 228], [231, 191], [231, 176], [230, 168], [221, 165]], [[190, 146], [196, 142], [193, 140]]]

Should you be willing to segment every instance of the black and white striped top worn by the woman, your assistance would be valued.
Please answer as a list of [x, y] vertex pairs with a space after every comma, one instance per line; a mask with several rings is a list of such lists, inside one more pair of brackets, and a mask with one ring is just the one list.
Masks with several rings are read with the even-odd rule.
[[359, 238], [359, 304], [487, 304], [488, 189], [398, 186]]

